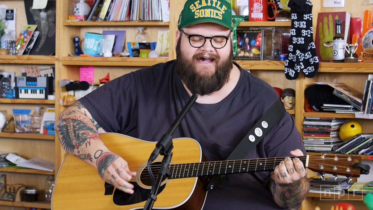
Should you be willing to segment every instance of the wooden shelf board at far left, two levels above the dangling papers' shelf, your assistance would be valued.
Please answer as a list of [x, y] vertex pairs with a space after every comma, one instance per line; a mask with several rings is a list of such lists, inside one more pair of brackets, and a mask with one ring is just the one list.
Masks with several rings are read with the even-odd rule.
[[0, 55], [0, 64], [55, 64], [56, 56]]

